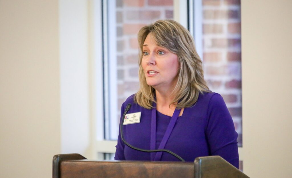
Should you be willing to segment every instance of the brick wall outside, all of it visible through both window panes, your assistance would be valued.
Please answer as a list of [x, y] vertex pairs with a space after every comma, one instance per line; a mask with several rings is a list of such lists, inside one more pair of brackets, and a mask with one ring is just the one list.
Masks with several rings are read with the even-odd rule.
[[[220, 93], [241, 131], [240, 0], [203, 0], [203, 62], [210, 89]], [[158, 19], [173, 19], [173, 0], [116, 0], [118, 108], [137, 92], [139, 29]], [[119, 111], [117, 113], [120, 113]], [[117, 122], [119, 122], [119, 114]]]

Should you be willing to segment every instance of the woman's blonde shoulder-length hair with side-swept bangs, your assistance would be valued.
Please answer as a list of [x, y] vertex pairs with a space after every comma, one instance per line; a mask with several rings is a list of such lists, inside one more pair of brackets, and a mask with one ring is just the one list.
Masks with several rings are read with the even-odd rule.
[[192, 36], [187, 29], [173, 20], [158, 20], [142, 27], [138, 33], [140, 89], [135, 95], [135, 103], [151, 109], [152, 103], [156, 102], [155, 89], [147, 84], [141, 65], [143, 44], [150, 33], [157, 45], [178, 56], [178, 81], [172, 92], [175, 96], [172, 104], [177, 103], [177, 108], [194, 105], [199, 93], [210, 92], [210, 90], [204, 80], [202, 61], [196, 51]]

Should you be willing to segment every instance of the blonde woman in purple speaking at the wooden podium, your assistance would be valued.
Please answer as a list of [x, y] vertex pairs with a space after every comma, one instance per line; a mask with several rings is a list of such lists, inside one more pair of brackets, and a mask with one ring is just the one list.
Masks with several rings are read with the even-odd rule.
[[[223, 98], [208, 89], [187, 29], [159, 20], [140, 29], [138, 42], [140, 90], [123, 103], [121, 116], [130, 103], [128, 113], [140, 114], [140, 122], [123, 126], [125, 140], [141, 149], [168, 149], [185, 161], [219, 155], [238, 168], [232, 118]], [[116, 147], [116, 160], [179, 161], [166, 152], [134, 150], [120, 135]]]

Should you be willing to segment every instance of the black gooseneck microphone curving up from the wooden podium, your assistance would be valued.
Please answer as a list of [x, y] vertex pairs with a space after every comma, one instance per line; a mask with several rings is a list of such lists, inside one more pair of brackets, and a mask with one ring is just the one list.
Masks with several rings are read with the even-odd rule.
[[120, 123], [120, 135], [121, 135], [121, 139], [123, 140], [125, 145], [127, 145], [128, 147], [130, 147], [132, 149], [141, 151], [141, 152], [167, 152], [167, 153], [175, 156], [176, 158], [178, 158], [180, 161], [185, 162], [185, 160], [182, 157], [178, 156], [177, 154], [173, 153], [172, 151], [170, 151], [168, 149], [154, 149], [154, 150], [140, 149], [140, 148], [134, 147], [134, 146], [130, 145], [128, 142], [126, 142], [126, 140], [124, 139], [124, 136], [123, 136], [123, 123], [124, 123], [124, 120], [125, 120], [125, 116], [126, 116], [127, 112], [130, 110], [130, 108], [131, 108], [131, 104], [129, 103], [126, 106], [125, 112], [124, 112], [123, 117], [122, 117], [122, 121]]

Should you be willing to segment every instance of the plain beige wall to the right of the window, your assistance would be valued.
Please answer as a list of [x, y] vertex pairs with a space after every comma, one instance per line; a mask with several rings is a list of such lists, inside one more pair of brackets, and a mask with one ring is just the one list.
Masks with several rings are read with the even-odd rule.
[[244, 172], [292, 177], [292, 1], [242, 0]]

